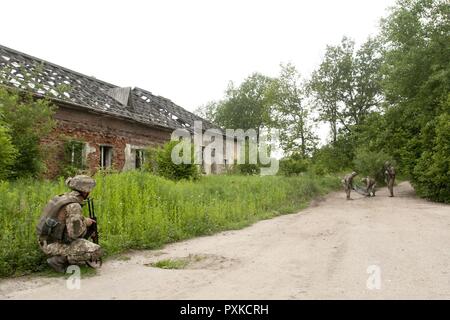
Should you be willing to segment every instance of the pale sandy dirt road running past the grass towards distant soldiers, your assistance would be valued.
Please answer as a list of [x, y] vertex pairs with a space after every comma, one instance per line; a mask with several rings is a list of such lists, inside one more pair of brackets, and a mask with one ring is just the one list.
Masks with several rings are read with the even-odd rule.
[[[396, 195], [333, 193], [298, 214], [127, 253], [80, 289], [64, 278], [3, 280], [0, 298], [450, 299], [450, 206], [415, 198], [407, 182]], [[148, 266], [188, 255], [186, 269]]]

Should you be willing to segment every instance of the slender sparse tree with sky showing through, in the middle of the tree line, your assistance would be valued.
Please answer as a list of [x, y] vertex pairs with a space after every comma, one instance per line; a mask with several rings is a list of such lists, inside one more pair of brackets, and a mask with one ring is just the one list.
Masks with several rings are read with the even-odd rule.
[[305, 103], [304, 87], [295, 66], [286, 64], [281, 65], [281, 74], [272, 88], [272, 120], [280, 130], [281, 148], [286, 155], [300, 153], [303, 158], [311, 154], [318, 141]]

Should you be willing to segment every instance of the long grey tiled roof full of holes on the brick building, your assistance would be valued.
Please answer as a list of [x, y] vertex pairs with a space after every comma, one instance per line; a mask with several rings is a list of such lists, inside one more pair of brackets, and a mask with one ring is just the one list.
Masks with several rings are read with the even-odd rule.
[[122, 88], [0, 45], [0, 84], [15, 86], [103, 114], [167, 129], [218, 128], [169, 99]]

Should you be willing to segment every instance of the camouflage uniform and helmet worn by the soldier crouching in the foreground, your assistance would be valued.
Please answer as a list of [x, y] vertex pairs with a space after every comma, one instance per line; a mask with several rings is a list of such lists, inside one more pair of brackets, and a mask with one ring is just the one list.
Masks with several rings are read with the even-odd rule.
[[[81, 207], [85, 199], [82, 193], [89, 193], [95, 186], [95, 181], [87, 176], [76, 176], [67, 179], [66, 184], [74, 191], [60, 196], [69, 197], [68, 201], [72, 201], [57, 211], [57, 220], [64, 228], [61, 239], [55, 240], [51, 234], [43, 236], [38, 230], [39, 245], [42, 251], [50, 256], [47, 262], [60, 272], [64, 272], [69, 264], [83, 264], [98, 260], [102, 256], [100, 246], [84, 238], [88, 227]], [[47, 207], [49, 206], [51, 208], [51, 201]], [[44, 213], [41, 221], [47, 215]]]

